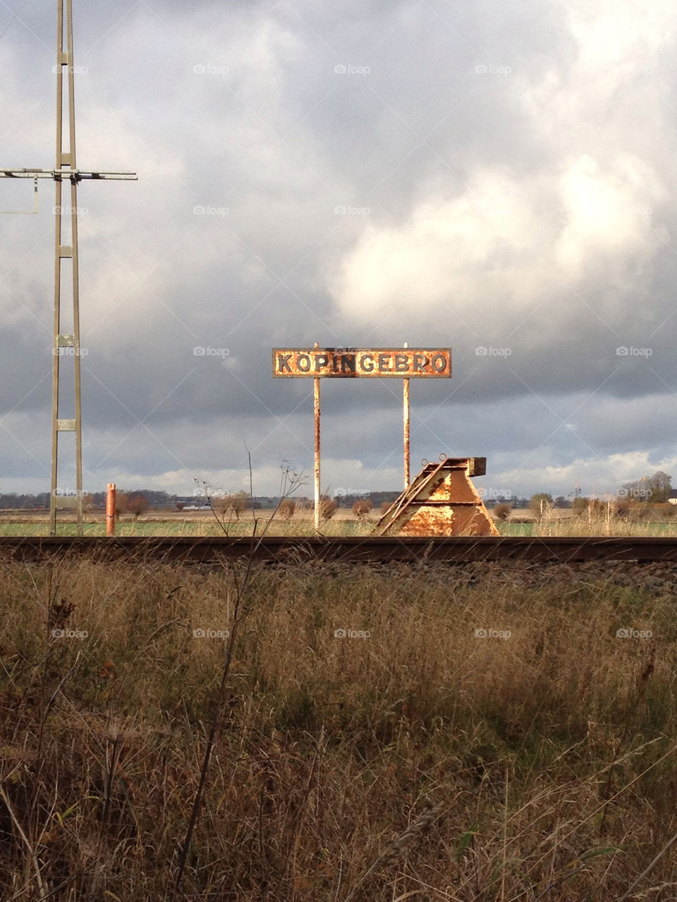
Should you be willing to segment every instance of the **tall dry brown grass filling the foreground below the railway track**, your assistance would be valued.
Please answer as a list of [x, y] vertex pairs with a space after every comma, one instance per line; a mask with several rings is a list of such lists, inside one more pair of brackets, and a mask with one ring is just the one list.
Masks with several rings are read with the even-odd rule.
[[[677, 831], [673, 595], [529, 573], [256, 571], [179, 897], [620, 897]], [[0, 897], [167, 897], [233, 574], [0, 575]], [[677, 896], [673, 849], [636, 897]]]

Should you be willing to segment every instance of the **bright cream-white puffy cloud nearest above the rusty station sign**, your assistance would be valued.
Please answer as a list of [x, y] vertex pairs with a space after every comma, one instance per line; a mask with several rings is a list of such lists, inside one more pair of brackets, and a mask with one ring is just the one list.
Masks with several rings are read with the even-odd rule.
[[500, 327], [599, 267], [629, 291], [661, 245], [649, 226], [663, 196], [654, 171], [627, 154], [581, 154], [552, 179], [475, 170], [460, 197], [431, 198], [401, 226], [366, 226], [334, 278], [336, 304], [360, 324], [402, 327], [416, 308], [489, 315]]

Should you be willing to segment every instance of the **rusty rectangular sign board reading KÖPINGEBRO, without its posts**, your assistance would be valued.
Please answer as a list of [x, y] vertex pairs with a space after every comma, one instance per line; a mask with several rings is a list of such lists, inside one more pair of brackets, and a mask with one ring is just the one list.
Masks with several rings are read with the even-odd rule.
[[274, 347], [272, 374], [310, 379], [449, 379], [452, 352], [436, 347]]

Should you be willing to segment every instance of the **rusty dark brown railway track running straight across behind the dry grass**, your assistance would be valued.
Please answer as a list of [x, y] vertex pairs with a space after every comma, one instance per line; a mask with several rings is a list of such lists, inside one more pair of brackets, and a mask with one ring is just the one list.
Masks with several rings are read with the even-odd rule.
[[677, 562], [677, 538], [558, 537], [292, 537], [264, 538], [82, 536], [2, 537], [0, 561], [40, 562], [88, 556], [101, 561], [154, 560], [217, 564], [252, 556], [261, 562], [325, 560], [346, 563], [400, 561]]

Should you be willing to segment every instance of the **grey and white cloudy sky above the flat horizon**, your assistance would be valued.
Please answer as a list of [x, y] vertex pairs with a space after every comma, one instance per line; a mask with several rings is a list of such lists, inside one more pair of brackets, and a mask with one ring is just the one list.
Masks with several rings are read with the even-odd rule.
[[[0, 165], [54, 165], [56, 0], [0, 2]], [[312, 473], [270, 348], [441, 346], [421, 458], [677, 482], [672, 3], [74, 0], [85, 486]], [[48, 491], [54, 187], [0, 216], [0, 491]], [[32, 182], [0, 182], [32, 209]], [[196, 354], [196, 348], [210, 349]], [[401, 386], [325, 381], [323, 488], [397, 489]], [[65, 414], [64, 414], [65, 415]], [[69, 459], [64, 444], [65, 460]], [[67, 468], [59, 476], [72, 484]], [[310, 493], [310, 486], [306, 490]]]

